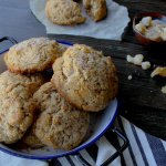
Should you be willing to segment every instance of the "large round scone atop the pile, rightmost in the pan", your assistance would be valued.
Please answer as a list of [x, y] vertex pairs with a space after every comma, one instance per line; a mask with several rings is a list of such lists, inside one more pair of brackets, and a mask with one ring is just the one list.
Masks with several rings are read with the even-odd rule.
[[84, 111], [103, 110], [117, 95], [118, 81], [111, 56], [84, 44], [70, 46], [53, 64], [56, 91]]

